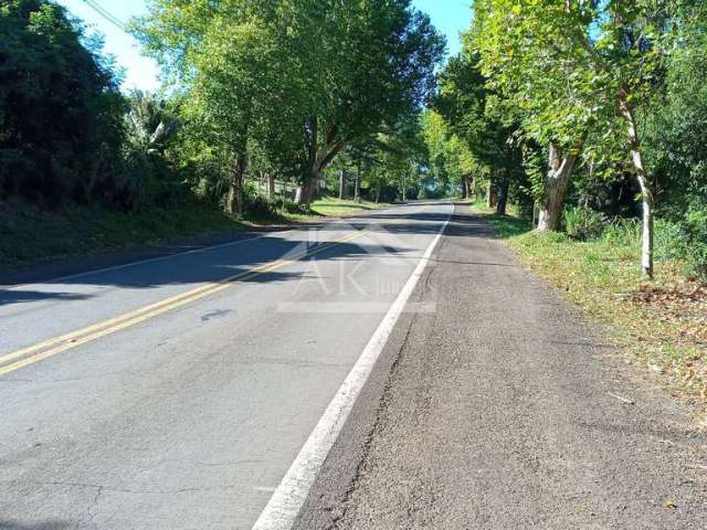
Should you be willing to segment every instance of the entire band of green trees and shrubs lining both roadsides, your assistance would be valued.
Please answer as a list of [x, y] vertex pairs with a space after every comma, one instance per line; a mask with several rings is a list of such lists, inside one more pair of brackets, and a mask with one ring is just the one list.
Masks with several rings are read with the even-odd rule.
[[410, 0], [155, 0], [130, 31], [160, 94], [120, 92], [64, 8], [0, 4], [8, 219], [484, 194], [576, 240], [640, 222], [646, 276], [655, 256], [707, 276], [699, 1], [477, 0], [436, 75], [443, 39]]

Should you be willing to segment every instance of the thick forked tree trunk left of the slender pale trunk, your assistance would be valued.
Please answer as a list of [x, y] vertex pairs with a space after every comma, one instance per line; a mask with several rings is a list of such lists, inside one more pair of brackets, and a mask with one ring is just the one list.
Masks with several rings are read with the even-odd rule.
[[559, 146], [550, 145], [550, 163], [540, 203], [538, 232], [558, 232], [562, 225], [564, 200], [579, 153], [562, 155]]

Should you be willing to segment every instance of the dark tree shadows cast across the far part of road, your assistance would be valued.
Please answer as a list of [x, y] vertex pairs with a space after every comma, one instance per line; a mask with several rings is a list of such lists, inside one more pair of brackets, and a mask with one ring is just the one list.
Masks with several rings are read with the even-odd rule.
[[[436, 234], [449, 215], [437, 212], [376, 213], [366, 218], [351, 219], [347, 222], [355, 230], [365, 230], [372, 234]], [[202, 283], [220, 282], [229, 277], [245, 274], [258, 265], [276, 259], [297, 258], [303, 251], [318, 251], [327, 237], [321, 236], [327, 231], [341, 231], [340, 224], [313, 227], [305, 239], [289, 240], [283, 235], [271, 234], [266, 237], [235, 242], [217, 247], [199, 248], [194, 252], [157, 257], [151, 261], [119, 265], [113, 269], [87, 272], [81, 276], [52, 279], [46, 282], [48, 290], [25, 290], [21, 286], [0, 290], [0, 307], [13, 304], [32, 303], [39, 300], [82, 300], [93, 297], [92, 294], [81, 292], [81, 286], [106, 286], [116, 288], [143, 289], [167, 285], [199, 285]], [[447, 237], [495, 237], [493, 230], [474, 215], [454, 214], [446, 227]], [[321, 241], [321, 243], [319, 242]], [[317, 252], [304, 259], [342, 259], [361, 256], [395, 257], [410, 252], [402, 242], [390, 246], [387, 244], [357, 244], [357, 242], [339, 243], [330, 248]], [[402, 256], [399, 256], [402, 257]], [[473, 262], [468, 262], [472, 265]], [[302, 279], [300, 273], [267, 272], [239, 279], [242, 283], [275, 283]], [[66, 286], [67, 292], [57, 292], [57, 286]], [[87, 289], [88, 292], [91, 289]]]

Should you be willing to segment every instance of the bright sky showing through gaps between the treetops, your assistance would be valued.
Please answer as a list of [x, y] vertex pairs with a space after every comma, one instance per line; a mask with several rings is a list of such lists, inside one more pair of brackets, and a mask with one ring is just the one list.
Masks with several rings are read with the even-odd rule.
[[[125, 70], [124, 88], [156, 91], [159, 87], [158, 67], [155, 62], [140, 54], [139, 44], [122, 29], [109, 22], [85, 0], [54, 0], [82, 19], [88, 30], [105, 36], [105, 52], [114, 55], [118, 66]], [[413, 0], [414, 6], [430, 14], [434, 25], [446, 36], [450, 54], [460, 50], [460, 32], [471, 21], [472, 0]], [[91, 0], [119, 22], [145, 13], [145, 0]]]

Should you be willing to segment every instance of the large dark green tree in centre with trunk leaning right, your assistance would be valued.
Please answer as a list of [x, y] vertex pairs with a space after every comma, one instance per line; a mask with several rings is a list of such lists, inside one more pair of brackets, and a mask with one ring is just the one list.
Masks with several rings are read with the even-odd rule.
[[[444, 41], [410, 0], [317, 2], [307, 47], [319, 97], [304, 125], [297, 202], [312, 201], [319, 173], [347, 145], [391, 126], [426, 99]], [[371, 46], [371, 43], [376, 45]], [[314, 57], [314, 60], [313, 60]]]

